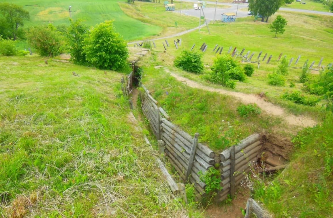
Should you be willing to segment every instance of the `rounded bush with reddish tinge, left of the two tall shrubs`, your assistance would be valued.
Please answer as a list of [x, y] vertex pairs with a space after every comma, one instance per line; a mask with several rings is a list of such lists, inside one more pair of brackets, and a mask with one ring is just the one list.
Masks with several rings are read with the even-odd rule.
[[30, 28], [27, 39], [41, 56], [57, 56], [65, 45], [63, 35], [52, 24]]

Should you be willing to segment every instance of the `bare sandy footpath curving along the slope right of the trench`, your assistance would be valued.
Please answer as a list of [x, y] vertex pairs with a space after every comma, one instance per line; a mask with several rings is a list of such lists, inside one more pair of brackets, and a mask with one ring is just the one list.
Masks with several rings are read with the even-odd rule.
[[298, 125], [298, 126], [302, 126], [302, 127], [311, 126], [312, 127], [317, 124], [317, 122], [315, 120], [313, 120], [309, 117], [288, 114], [281, 107], [273, 105], [272, 103], [266, 102], [263, 99], [259, 98], [258, 96], [238, 93], [238, 92], [231, 92], [231, 91], [227, 91], [227, 90], [223, 90], [223, 89], [215, 89], [212, 87], [204, 86], [202, 84], [199, 84], [199, 83], [189, 80], [187, 78], [181, 77], [175, 73], [170, 72], [168, 69], [166, 69], [166, 72], [170, 73], [170, 75], [173, 76], [175, 79], [177, 79], [178, 81], [182, 82], [183, 84], [185, 84], [189, 87], [203, 89], [203, 90], [207, 90], [209, 92], [217, 92], [217, 93], [220, 93], [223, 95], [234, 96], [234, 97], [240, 99], [244, 104], [255, 103], [255, 104], [257, 104], [257, 106], [259, 108], [261, 108], [267, 114], [282, 117], [289, 125]]

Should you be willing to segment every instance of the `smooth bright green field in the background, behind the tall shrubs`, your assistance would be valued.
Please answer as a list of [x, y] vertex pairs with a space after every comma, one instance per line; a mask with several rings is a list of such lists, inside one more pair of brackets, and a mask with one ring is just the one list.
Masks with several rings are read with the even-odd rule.
[[82, 19], [88, 26], [95, 26], [106, 20], [114, 20], [116, 31], [126, 40], [142, 39], [157, 35], [162, 28], [156, 25], [146, 24], [133, 19], [120, 9], [118, 1], [115, 0], [14, 0], [10, 2], [21, 5], [30, 13], [30, 21], [26, 22], [26, 27], [41, 24], [69, 25], [71, 8], [72, 19]]

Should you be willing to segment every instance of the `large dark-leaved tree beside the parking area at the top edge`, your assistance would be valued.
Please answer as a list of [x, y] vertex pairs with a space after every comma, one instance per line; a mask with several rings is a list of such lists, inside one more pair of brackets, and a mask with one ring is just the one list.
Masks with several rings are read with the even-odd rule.
[[283, 2], [283, 0], [249, 0], [248, 9], [252, 14], [262, 16], [262, 22], [265, 18], [267, 22], [268, 18], [279, 10]]

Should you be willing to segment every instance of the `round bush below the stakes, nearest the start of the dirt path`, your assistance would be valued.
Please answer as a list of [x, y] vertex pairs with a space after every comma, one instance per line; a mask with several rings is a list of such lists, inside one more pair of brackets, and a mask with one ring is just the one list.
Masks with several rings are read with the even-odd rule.
[[182, 51], [180, 56], [174, 60], [174, 66], [184, 71], [199, 74], [203, 71], [203, 63], [201, 61], [203, 54], [193, 51]]

